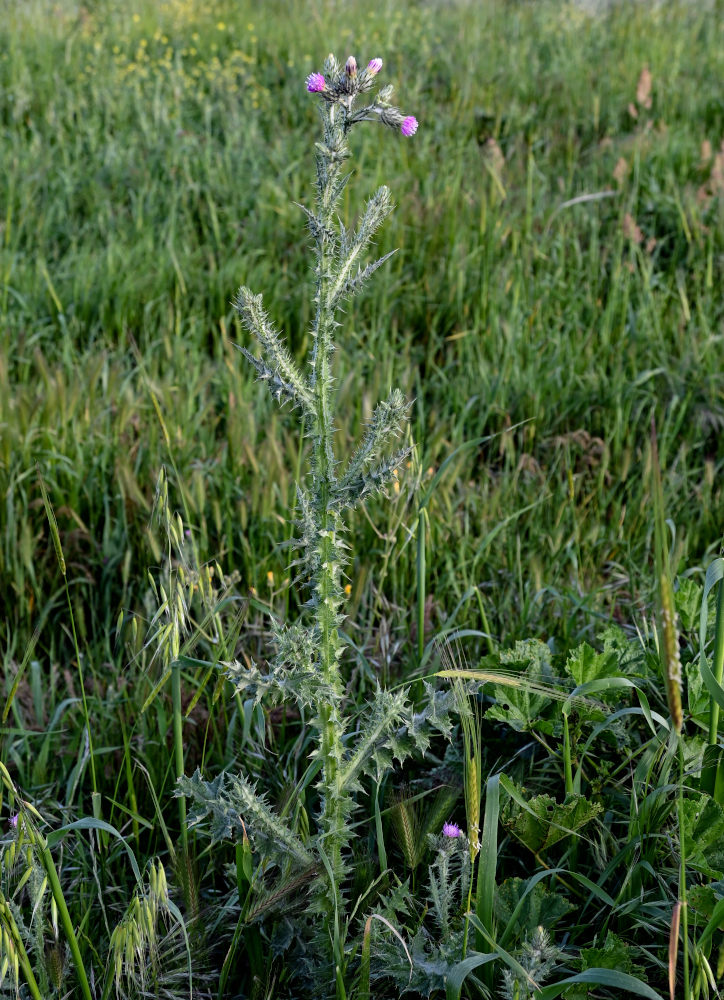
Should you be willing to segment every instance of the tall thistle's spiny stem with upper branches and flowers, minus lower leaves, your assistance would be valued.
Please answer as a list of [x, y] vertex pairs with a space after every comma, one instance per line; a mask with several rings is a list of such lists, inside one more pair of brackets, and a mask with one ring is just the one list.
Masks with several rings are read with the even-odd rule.
[[[329, 56], [324, 75], [313, 73], [307, 79], [307, 90], [319, 95], [323, 122], [322, 141], [316, 144], [316, 203], [314, 211], [302, 207], [307, 216], [314, 243], [315, 315], [312, 326], [312, 350], [308, 375], [304, 377], [296, 362], [284, 347], [261, 305], [261, 296], [241, 288], [236, 301], [242, 323], [262, 346], [257, 358], [242, 348], [243, 353], [266, 381], [274, 397], [281, 403], [291, 402], [302, 413], [304, 431], [311, 439], [311, 477], [308, 488], [298, 487], [298, 510], [302, 537], [298, 539], [303, 565], [311, 588], [308, 607], [311, 621], [297, 627], [294, 635], [299, 642], [287, 642], [287, 676], [302, 678], [310, 670], [309, 658], [317, 675], [309, 700], [316, 712], [318, 729], [317, 755], [321, 758], [322, 774], [319, 785], [322, 801], [319, 817], [319, 849], [325, 859], [329, 883], [319, 899], [320, 909], [328, 918], [342, 910], [340, 882], [345, 874], [343, 848], [347, 842], [346, 822], [351, 812], [352, 787], [359, 773], [351, 764], [343, 737], [343, 683], [339, 660], [342, 641], [339, 626], [344, 600], [342, 572], [346, 562], [342, 540], [343, 513], [365, 496], [385, 489], [407, 449], [385, 455], [389, 442], [396, 437], [407, 417], [408, 404], [398, 390], [380, 403], [362, 441], [341, 475], [334, 454], [334, 377], [332, 359], [335, 350], [334, 333], [339, 327], [335, 316], [344, 301], [356, 294], [367, 279], [391, 254], [386, 254], [367, 266], [361, 266], [364, 252], [372, 238], [392, 211], [389, 191], [381, 187], [368, 201], [358, 228], [348, 230], [336, 215], [339, 199], [349, 180], [344, 163], [350, 157], [348, 134], [362, 121], [377, 121], [399, 129], [403, 135], [414, 134], [417, 122], [405, 118], [389, 103], [391, 87], [383, 88], [364, 107], [355, 109], [355, 100], [372, 89], [382, 60], [373, 59], [358, 72], [353, 57], [340, 67]], [[279, 635], [284, 640], [292, 630]], [[300, 646], [307, 653], [300, 655]], [[282, 654], [280, 643], [280, 657]], [[296, 652], [292, 647], [295, 647]], [[291, 654], [289, 650], [292, 650]], [[301, 681], [300, 681], [301, 683]], [[297, 697], [300, 696], [297, 692]], [[390, 710], [391, 714], [391, 710]], [[340, 956], [335, 956], [339, 959]]]

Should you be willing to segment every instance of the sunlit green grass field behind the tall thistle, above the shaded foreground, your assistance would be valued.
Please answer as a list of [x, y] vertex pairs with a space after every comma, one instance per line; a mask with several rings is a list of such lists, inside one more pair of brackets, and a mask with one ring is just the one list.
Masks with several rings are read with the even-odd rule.
[[[566, 640], [592, 614], [625, 617], [646, 589], [652, 413], [680, 553], [703, 559], [724, 458], [721, 197], [697, 195], [712, 174], [702, 143], [716, 150], [724, 122], [712, 12], [391, 4], [348, 22], [332, 5], [285, 17], [272, 4], [254, 24], [244, 4], [53, 9], [11, 4], [0, 62], [0, 586], [16, 656], [45, 614], [41, 645], [57, 644], [62, 615], [36, 462], [84, 638], [102, 643], [141, 596], [168, 462], [149, 386], [201, 550], [244, 586], [284, 579], [273, 550], [296, 443], [231, 346], [230, 300], [242, 280], [273, 291], [303, 353], [310, 262], [292, 201], [310, 195], [314, 110], [302, 83], [332, 45], [382, 53], [422, 123], [412, 143], [361, 140], [349, 213], [384, 179], [399, 207], [380, 249], [401, 252], [345, 331], [340, 451], [393, 382], [415, 397], [423, 470], [500, 433], [462, 453], [432, 498], [439, 614], [473, 586], [501, 639]], [[653, 103], [635, 120], [645, 64]], [[561, 207], [601, 192], [613, 193]], [[651, 252], [626, 237], [627, 213]], [[396, 518], [374, 505], [370, 518], [352, 582], [355, 619], [374, 627], [385, 602], [410, 606], [414, 546], [380, 580]]]

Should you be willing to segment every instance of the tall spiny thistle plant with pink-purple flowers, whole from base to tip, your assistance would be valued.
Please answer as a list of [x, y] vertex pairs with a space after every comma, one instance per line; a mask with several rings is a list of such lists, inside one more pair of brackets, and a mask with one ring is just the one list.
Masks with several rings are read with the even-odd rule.
[[[392, 88], [382, 88], [374, 97], [381, 59], [372, 59], [360, 70], [354, 57], [341, 66], [329, 56], [323, 73], [312, 73], [307, 91], [319, 100], [322, 138], [316, 143], [316, 199], [313, 208], [300, 206], [306, 216], [314, 254], [314, 320], [308, 367], [298, 366], [262, 305], [261, 295], [242, 287], [235, 306], [243, 327], [261, 346], [257, 357], [246, 347], [241, 351], [280, 403], [290, 403], [299, 412], [302, 433], [311, 441], [310, 469], [297, 484], [299, 529], [295, 544], [299, 558], [296, 582], [307, 587], [308, 600], [301, 619], [294, 624], [273, 622], [276, 656], [269, 667], [256, 664], [227, 665], [227, 676], [237, 693], [253, 692], [279, 701], [292, 698], [305, 714], [311, 709], [316, 740], [312, 766], [318, 772], [318, 813], [311, 826], [301, 801], [285, 806], [279, 815], [243, 774], [220, 776], [213, 783], [197, 774], [183, 780], [181, 789], [196, 800], [191, 822], [212, 816], [212, 836], [235, 834], [246, 837], [263, 858], [259, 876], [249, 878], [250, 892], [266, 892], [283, 899], [285, 886], [298, 893], [300, 884], [311, 886], [311, 907], [316, 914], [314, 952], [332, 960], [331, 981], [338, 996], [345, 993], [344, 939], [347, 932], [346, 878], [348, 844], [352, 836], [350, 815], [356, 794], [366, 777], [380, 779], [394, 759], [402, 760], [416, 746], [424, 749], [429, 725], [448, 732], [446, 702], [430, 692], [429, 707], [413, 714], [404, 691], [377, 689], [361, 720], [345, 717], [344, 683], [341, 670], [345, 592], [343, 573], [349, 547], [345, 541], [345, 517], [366, 497], [385, 492], [410, 449], [390, 450], [405, 427], [409, 404], [394, 389], [377, 404], [358, 447], [346, 463], [334, 448], [335, 379], [333, 358], [338, 314], [358, 294], [371, 275], [392, 254], [366, 262], [375, 233], [393, 209], [390, 192], [380, 187], [369, 199], [354, 229], [337, 215], [337, 206], [350, 179], [345, 162], [351, 157], [349, 135], [363, 122], [387, 126], [405, 137], [417, 130], [417, 120], [405, 116], [391, 104]], [[307, 785], [307, 782], [304, 782]], [[301, 818], [303, 817], [303, 819]], [[240, 825], [241, 824], [241, 825]], [[267, 885], [269, 870], [278, 869], [276, 887]], [[301, 880], [301, 881], [300, 881]], [[243, 903], [243, 901], [242, 901]], [[249, 900], [242, 916], [255, 912]], [[350, 918], [351, 919], [351, 918]], [[332, 955], [329, 955], [330, 940]]]

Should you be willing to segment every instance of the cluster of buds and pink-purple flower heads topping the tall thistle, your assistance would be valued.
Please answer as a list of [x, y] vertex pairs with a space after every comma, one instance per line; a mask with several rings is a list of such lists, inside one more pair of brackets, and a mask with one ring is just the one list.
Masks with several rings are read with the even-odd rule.
[[389, 101], [392, 87], [383, 87], [372, 104], [352, 112], [352, 103], [359, 94], [364, 94], [374, 86], [375, 77], [382, 69], [382, 60], [370, 59], [364, 69], [360, 70], [354, 56], [349, 56], [343, 67], [333, 55], [330, 55], [324, 65], [324, 73], [310, 73], [306, 80], [310, 94], [319, 94], [328, 104], [339, 104], [347, 112], [347, 126], [363, 120], [371, 120], [373, 115], [379, 115], [383, 125], [399, 129], [404, 136], [417, 132], [417, 119], [413, 115], [403, 115], [399, 108], [393, 107]]

